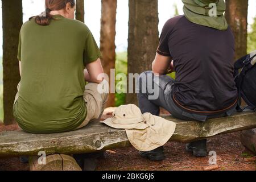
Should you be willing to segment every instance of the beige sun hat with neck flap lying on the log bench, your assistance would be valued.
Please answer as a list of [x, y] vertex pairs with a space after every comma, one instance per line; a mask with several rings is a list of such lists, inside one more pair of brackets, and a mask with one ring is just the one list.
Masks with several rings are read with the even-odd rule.
[[151, 151], [163, 146], [175, 132], [175, 122], [141, 113], [133, 104], [119, 106], [112, 118], [102, 121], [115, 129], [125, 129], [130, 143], [139, 151]]

